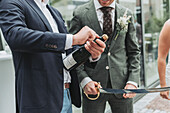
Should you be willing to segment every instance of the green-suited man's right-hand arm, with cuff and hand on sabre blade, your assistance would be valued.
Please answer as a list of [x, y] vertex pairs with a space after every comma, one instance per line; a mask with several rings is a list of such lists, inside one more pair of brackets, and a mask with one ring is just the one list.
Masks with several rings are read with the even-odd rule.
[[[129, 15], [133, 15], [131, 12]], [[136, 84], [139, 84], [140, 77], [140, 50], [136, 30], [134, 26], [134, 17], [130, 19], [128, 32], [126, 34], [126, 51], [128, 58], [128, 82], [125, 89], [137, 89]], [[133, 98], [136, 94], [124, 94], [124, 98]]]

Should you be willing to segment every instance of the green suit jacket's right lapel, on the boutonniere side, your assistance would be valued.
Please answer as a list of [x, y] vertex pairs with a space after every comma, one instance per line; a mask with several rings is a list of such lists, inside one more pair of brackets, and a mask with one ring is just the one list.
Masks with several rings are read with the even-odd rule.
[[119, 19], [120, 17], [123, 16], [123, 13], [122, 13], [122, 9], [119, 7], [119, 5], [116, 3], [116, 6], [115, 6], [115, 24], [114, 24], [114, 31], [113, 31], [113, 35], [112, 35], [112, 40], [110, 40], [110, 42], [108, 42], [110, 45], [110, 50], [114, 47], [115, 45], [115, 42], [116, 40], [115, 37], [118, 33], [117, 29], [116, 29], [116, 24], [117, 24], [117, 19]]

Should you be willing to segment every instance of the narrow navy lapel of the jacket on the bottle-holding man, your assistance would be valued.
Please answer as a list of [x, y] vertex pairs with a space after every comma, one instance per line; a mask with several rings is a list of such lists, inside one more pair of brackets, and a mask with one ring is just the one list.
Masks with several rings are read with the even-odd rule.
[[48, 20], [46, 19], [45, 15], [40, 10], [40, 8], [37, 6], [37, 4], [34, 2], [34, 0], [26, 0], [26, 2], [35, 10], [37, 15], [39, 15], [39, 17], [41, 18], [41, 20], [43, 21], [43, 23], [45, 24], [47, 29], [52, 32], [52, 28], [51, 28]]

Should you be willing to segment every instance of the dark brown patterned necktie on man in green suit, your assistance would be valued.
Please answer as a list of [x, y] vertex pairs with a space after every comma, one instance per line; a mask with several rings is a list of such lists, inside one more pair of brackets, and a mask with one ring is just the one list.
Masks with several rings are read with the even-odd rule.
[[103, 34], [107, 34], [109, 38], [112, 35], [112, 19], [111, 19], [111, 7], [102, 7], [100, 10], [103, 12]]

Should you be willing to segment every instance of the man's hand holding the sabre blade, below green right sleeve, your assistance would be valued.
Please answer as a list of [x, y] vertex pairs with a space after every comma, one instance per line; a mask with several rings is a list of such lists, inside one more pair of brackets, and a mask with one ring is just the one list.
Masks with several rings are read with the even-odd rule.
[[[136, 86], [134, 86], [133, 84], [126, 84], [124, 89], [137, 89]], [[123, 94], [124, 98], [133, 98], [136, 96], [136, 93], [132, 93], [132, 94]]]

